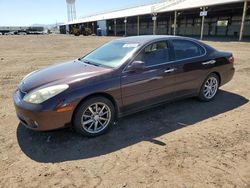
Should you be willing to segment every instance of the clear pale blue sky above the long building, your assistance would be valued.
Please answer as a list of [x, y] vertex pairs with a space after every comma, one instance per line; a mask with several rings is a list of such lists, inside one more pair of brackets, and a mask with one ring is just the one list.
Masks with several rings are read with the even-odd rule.
[[[76, 0], [77, 17], [157, 0]], [[0, 0], [0, 26], [30, 26], [67, 21], [66, 0]]]

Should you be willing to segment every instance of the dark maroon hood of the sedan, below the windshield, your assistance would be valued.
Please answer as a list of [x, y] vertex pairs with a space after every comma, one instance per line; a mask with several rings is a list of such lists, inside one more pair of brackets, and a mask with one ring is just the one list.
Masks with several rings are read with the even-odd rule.
[[36, 71], [27, 76], [20, 84], [19, 88], [23, 92], [29, 92], [42, 86], [56, 84], [69, 84], [81, 81], [90, 77], [110, 72], [112, 69], [89, 65], [81, 61], [71, 61], [56, 64]]

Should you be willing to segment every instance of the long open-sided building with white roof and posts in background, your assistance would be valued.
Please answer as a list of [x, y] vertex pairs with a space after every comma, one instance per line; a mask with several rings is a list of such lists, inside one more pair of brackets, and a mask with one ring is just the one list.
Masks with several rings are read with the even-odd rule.
[[[166, 0], [161, 3], [79, 18], [61, 25], [98, 27], [106, 35], [176, 34], [204, 37], [250, 37], [247, 0]], [[203, 17], [200, 15], [204, 15]], [[100, 24], [101, 23], [101, 24]]]

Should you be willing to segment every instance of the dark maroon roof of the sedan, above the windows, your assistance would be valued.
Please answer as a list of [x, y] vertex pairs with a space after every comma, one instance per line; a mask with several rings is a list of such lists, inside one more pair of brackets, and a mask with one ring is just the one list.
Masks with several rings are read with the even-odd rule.
[[173, 36], [173, 35], [141, 35], [141, 36], [134, 36], [134, 37], [124, 37], [124, 38], [116, 39], [116, 41], [128, 42], [128, 43], [146, 44], [148, 42], [152, 42], [152, 41], [155, 41], [155, 40], [161, 40], [161, 39], [163, 39], [163, 40], [168, 40], [168, 39], [195, 40], [195, 39], [192, 39], [192, 38], [181, 37], [181, 36]]

